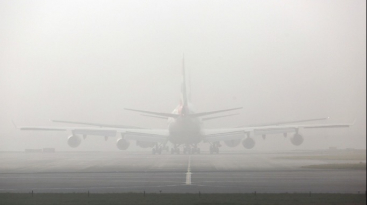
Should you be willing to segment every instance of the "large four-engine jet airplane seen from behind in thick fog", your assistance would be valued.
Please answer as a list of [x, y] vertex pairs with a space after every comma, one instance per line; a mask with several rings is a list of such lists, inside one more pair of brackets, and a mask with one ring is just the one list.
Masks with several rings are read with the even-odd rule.
[[[144, 111], [136, 109], [127, 109], [142, 113], [143, 116], [166, 119], [168, 121], [168, 129], [147, 129], [141, 127], [125, 126], [125, 125], [109, 125], [99, 123], [85, 123], [73, 121], [51, 120], [55, 123], [69, 123], [88, 125], [96, 127], [17, 127], [25, 130], [36, 131], [71, 131], [72, 135], [68, 138], [68, 145], [76, 148], [81, 144], [82, 137], [85, 139], [88, 135], [103, 136], [105, 140], [109, 137], [117, 137], [116, 146], [120, 150], [127, 150], [131, 141], [142, 148], [152, 148], [152, 154], [161, 154], [162, 151], [169, 151], [167, 144], [171, 144], [171, 154], [180, 154], [180, 147], [183, 148], [184, 154], [200, 154], [200, 143], [209, 143], [209, 151], [211, 154], [219, 153], [221, 142], [228, 147], [236, 147], [240, 143], [246, 149], [252, 149], [255, 146], [254, 137], [262, 136], [263, 139], [269, 134], [283, 134], [287, 137], [288, 133], [292, 134], [290, 141], [293, 145], [299, 146], [303, 143], [303, 136], [299, 133], [299, 129], [316, 129], [316, 128], [346, 128], [353, 124], [305, 124], [305, 125], [288, 125], [292, 123], [320, 121], [328, 118], [308, 119], [299, 121], [274, 122], [267, 124], [241, 126], [235, 128], [221, 129], [204, 129], [203, 121], [233, 116], [237, 114], [229, 114], [223, 116], [206, 117], [217, 113], [235, 111], [242, 108], [232, 108], [211, 112], [196, 112], [194, 106], [190, 102], [187, 89], [187, 79], [185, 73], [185, 60], [182, 55], [182, 83], [181, 83], [181, 100], [179, 105], [171, 113], [161, 113], [153, 111]], [[15, 125], [15, 124], [14, 124]]]

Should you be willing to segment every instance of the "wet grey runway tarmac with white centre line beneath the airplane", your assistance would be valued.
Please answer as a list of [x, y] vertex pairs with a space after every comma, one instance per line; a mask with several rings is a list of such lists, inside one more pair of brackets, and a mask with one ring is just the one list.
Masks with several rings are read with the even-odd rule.
[[301, 166], [330, 161], [279, 158], [299, 154], [304, 152], [248, 151], [219, 155], [1, 152], [0, 192], [357, 193], [366, 190], [366, 170], [305, 169]]

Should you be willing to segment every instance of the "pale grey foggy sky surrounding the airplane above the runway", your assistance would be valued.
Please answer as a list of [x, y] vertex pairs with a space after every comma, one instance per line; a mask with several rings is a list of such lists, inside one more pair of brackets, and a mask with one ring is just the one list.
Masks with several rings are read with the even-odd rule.
[[275, 135], [254, 149], [366, 148], [365, 1], [3, 0], [0, 150], [117, 151], [115, 139], [90, 136], [72, 149], [71, 133], [19, 131], [12, 120], [166, 128], [124, 108], [171, 112], [182, 53], [199, 111], [243, 107], [207, 128], [356, 119], [305, 130], [300, 147]]

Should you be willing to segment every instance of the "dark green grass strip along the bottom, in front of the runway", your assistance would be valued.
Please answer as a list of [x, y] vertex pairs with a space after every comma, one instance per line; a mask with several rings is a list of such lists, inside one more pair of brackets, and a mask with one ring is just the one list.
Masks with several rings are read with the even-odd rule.
[[366, 204], [342, 193], [0, 193], [0, 204]]

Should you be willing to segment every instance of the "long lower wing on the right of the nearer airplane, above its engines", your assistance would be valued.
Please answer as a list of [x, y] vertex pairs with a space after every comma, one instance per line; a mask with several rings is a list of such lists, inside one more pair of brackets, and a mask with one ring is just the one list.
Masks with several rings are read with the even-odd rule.
[[255, 136], [268, 134], [284, 134], [296, 133], [299, 128], [315, 129], [315, 128], [346, 128], [352, 124], [318, 124], [318, 125], [275, 125], [275, 126], [257, 126], [230, 129], [204, 129], [204, 142], [219, 142], [227, 140], [236, 140], [246, 138], [247, 135], [253, 133]]

